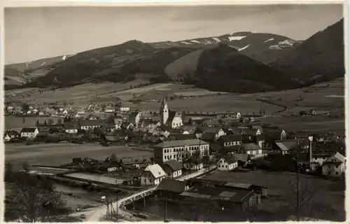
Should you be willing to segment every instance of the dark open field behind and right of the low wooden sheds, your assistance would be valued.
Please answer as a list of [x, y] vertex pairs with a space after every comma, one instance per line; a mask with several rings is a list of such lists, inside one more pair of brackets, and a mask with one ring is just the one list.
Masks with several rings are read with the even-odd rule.
[[[202, 179], [212, 179], [217, 181], [229, 181], [237, 183], [251, 183], [257, 186], [264, 186], [267, 188], [267, 195], [274, 197], [273, 199], [267, 199], [269, 201], [275, 201], [276, 209], [278, 205], [286, 202], [286, 190], [288, 188], [289, 180], [296, 179], [295, 174], [290, 173], [272, 173], [265, 171], [251, 171], [247, 173], [243, 172], [214, 172], [208, 176], [204, 176]], [[314, 200], [321, 204], [331, 204], [332, 207], [338, 211], [344, 213], [344, 189], [340, 187], [340, 182], [333, 182], [319, 177], [307, 176], [300, 174], [300, 183], [305, 183], [316, 191]], [[262, 206], [266, 205], [263, 202]], [[272, 208], [267, 208], [272, 209]]]

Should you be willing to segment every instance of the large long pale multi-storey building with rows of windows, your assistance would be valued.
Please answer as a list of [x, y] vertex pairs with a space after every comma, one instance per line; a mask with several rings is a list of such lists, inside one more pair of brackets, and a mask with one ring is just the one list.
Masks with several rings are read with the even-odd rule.
[[193, 156], [199, 153], [200, 157], [209, 154], [209, 143], [200, 139], [163, 141], [153, 148], [155, 161], [160, 163], [168, 160], [182, 162], [186, 154]]

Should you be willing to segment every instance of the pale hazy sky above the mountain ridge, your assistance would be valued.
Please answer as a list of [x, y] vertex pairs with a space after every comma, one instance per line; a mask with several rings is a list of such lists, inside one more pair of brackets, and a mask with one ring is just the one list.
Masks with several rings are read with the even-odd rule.
[[137, 39], [179, 41], [237, 31], [309, 38], [342, 5], [46, 7], [5, 9], [5, 63], [75, 54]]

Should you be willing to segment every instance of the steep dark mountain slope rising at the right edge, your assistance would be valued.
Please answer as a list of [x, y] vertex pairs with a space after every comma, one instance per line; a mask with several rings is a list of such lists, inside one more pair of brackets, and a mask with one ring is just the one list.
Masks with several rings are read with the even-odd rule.
[[270, 66], [306, 83], [344, 76], [344, 21], [327, 27]]

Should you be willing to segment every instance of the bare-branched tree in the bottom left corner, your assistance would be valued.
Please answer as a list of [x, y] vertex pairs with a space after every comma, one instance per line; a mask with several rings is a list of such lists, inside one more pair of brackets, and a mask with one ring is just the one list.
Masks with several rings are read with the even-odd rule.
[[26, 173], [7, 174], [12, 175], [13, 183], [6, 189], [5, 221], [55, 222], [71, 214], [52, 181]]

